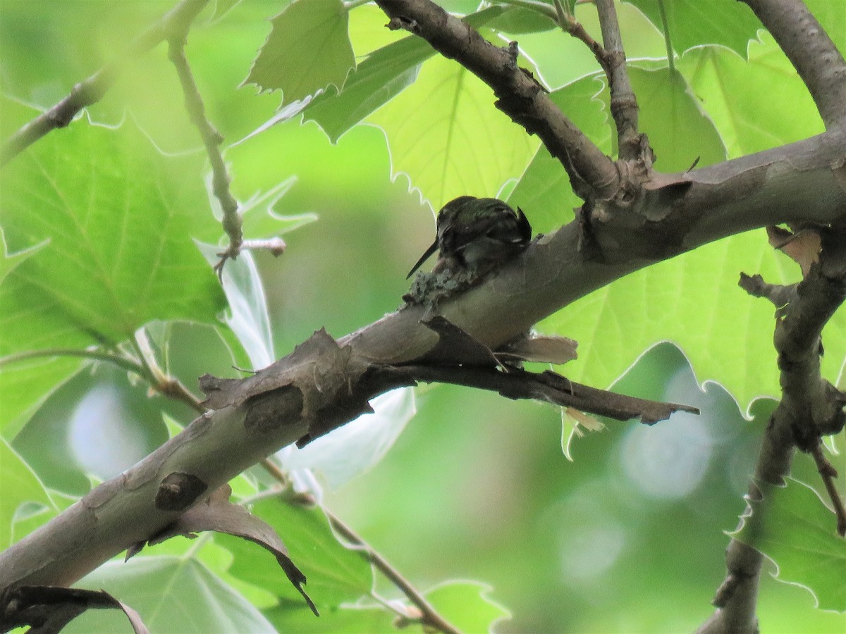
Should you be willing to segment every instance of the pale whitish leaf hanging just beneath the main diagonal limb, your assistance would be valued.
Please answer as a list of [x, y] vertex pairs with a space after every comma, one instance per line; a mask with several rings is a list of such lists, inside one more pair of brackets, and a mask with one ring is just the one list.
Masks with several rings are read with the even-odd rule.
[[415, 391], [393, 390], [371, 401], [374, 412], [298, 449], [280, 452], [286, 470], [310, 469], [322, 473], [329, 487], [338, 489], [382, 460], [416, 413]]

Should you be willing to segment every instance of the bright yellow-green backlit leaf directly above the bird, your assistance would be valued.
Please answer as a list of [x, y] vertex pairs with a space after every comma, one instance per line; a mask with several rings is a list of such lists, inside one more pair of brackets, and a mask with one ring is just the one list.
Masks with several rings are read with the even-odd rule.
[[393, 174], [435, 209], [461, 194], [496, 196], [537, 140], [493, 107], [492, 90], [451, 60], [433, 59], [415, 85], [369, 119], [385, 131]]

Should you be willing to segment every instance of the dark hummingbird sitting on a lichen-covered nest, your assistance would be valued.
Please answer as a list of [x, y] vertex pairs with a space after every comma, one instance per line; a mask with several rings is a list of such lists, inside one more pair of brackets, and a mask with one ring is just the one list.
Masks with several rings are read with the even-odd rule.
[[519, 207], [515, 211], [496, 198], [459, 196], [437, 212], [435, 242], [405, 279], [438, 249], [434, 271], [450, 268], [481, 275], [518, 254], [530, 240], [531, 225]]

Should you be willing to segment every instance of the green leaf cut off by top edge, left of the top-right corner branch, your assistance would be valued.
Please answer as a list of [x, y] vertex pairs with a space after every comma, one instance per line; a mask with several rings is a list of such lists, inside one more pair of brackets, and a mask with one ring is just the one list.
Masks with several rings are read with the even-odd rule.
[[659, 4], [667, 14], [670, 40], [677, 52], [695, 46], [717, 44], [746, 57], [746, 45], [754, 40], [761, 22], [745, 3], [736, 0], [627, 0], [664, 32]]

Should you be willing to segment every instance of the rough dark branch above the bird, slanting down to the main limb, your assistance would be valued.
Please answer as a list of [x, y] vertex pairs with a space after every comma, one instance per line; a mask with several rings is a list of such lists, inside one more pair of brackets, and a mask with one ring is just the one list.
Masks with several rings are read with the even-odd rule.
[[422, 37], [444, 57], [455, 59], [491, 86], [499, 100], [497, 107], [529, 134], [537, 134], [561, 161], [576, 194], [607, 198], [616, 192], [618, 172], [613, 161], [563, 115], [530, 73], [517, 66], [516, 45], [494, 46], [429, 0], [376, 3], [391, 19], [391, 28], [404, 28]]

